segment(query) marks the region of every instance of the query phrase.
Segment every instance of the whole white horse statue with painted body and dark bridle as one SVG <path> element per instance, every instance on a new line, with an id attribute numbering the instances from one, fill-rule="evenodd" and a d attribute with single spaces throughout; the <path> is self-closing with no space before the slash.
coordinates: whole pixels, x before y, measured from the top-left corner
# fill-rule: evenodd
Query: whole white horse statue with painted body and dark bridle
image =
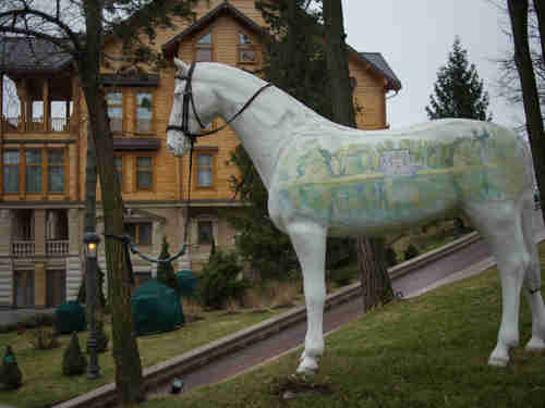
<path id="1" fill-rule="evenodd" d="M 190 147 L 186 135 L 218 116 L 229 122 L 268 189 L 271 220 L 293 243 L 307 311 L 298 372 L 317 370 L 324 351 L 326 236 L 379 236 L 451 210 L 471 219 L 498 264 L 502 312 L 488 363 L 506 366 L 519 343 L 521 288 L 532 308 L 526 349 L 545 349 L 530 154 L 512 132 L 453 119 L 399 131 L 354 129 L 235 67 L 174 63 L 167 146 L 181 157 Z"/>

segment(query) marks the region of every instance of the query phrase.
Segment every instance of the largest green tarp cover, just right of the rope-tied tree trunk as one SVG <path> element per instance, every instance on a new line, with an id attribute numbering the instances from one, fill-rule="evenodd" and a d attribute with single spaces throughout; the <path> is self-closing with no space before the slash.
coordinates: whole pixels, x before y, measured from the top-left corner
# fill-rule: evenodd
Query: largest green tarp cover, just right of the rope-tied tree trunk
<path id="1" fill-rule="evenodd" d="M 131 296 L 136 335 L 170 332 L 185 322 L 174 289 L 150 279 Z"/>

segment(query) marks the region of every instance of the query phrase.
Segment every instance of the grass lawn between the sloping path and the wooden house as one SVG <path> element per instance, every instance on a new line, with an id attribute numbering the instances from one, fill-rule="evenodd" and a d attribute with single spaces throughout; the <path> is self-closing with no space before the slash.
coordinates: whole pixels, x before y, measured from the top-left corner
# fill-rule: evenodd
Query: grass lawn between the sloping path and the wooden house
<path id="1" fill-rule="evenodd" d="M 173 332 L 141 336 L 137 338 L 143 367 L 154 366 L 181 355 L 195 347 L 218 339 L 225 335 L 245 329 L 286 310 L 265 313 L 242 311 L 225 316 L 225 310 L 207 312 L 205 320 L 187 323 Z M 106 331 L 110 337 L 110 326 Z M 85 349 L 87 332 L 80 333 L 80 345 Z M 28 343 L 27 334 L 16 332 L 0 335 L 0 353 L 3 357 L 5 346 L 11 345 L 19 367 L 23 373 L 23 386 L 16 391 L 0 391 L 1 403 L 19 408 L 43 407 L 70 399 L 89 392 L 100 385 L 114 381 L 114 366 L 111 347 L 99 355 L 104 376 L 89 381 L 84 375 L 66 378 L 62 375 L 62 355 L 70 342 L 69 335 L 60 336 L 61 346 L 51 350 L 35 350 Z"/>

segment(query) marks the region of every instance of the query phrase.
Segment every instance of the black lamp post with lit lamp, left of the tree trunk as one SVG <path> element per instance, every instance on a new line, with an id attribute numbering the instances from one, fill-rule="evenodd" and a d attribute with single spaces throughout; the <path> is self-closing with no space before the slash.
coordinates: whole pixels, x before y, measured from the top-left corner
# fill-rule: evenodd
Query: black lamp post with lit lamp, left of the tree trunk
<path id="1" fill-rule="evenodd" d="M 93 232 L 87 232 L 83 236 L 85 244 L 85 257 L 87 261 L 87 273 L 85 274 L 85 304 L 87 306 L 87 317 L 89 319 L 89 335 L 87 337 L 87 350 L 89 353 L 89 364 L 87 366 L 87 379 L 94 380 L 100 376 L 97 356 L 97 254 L 100 237 Z"/>

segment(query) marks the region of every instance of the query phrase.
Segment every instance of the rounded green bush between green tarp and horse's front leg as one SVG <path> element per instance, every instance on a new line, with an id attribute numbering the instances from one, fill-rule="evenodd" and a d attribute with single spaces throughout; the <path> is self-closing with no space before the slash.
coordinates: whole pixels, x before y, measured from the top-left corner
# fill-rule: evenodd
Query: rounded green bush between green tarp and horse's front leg
<path id="1" fill-rule="evenodd" d="M 206 308 L 220 309 L 229 300 L 242 301 L 250 282 L 242 276 L 242 264 L 235 252 L 217 249 L 203 267 L 198 298 Z"/>

